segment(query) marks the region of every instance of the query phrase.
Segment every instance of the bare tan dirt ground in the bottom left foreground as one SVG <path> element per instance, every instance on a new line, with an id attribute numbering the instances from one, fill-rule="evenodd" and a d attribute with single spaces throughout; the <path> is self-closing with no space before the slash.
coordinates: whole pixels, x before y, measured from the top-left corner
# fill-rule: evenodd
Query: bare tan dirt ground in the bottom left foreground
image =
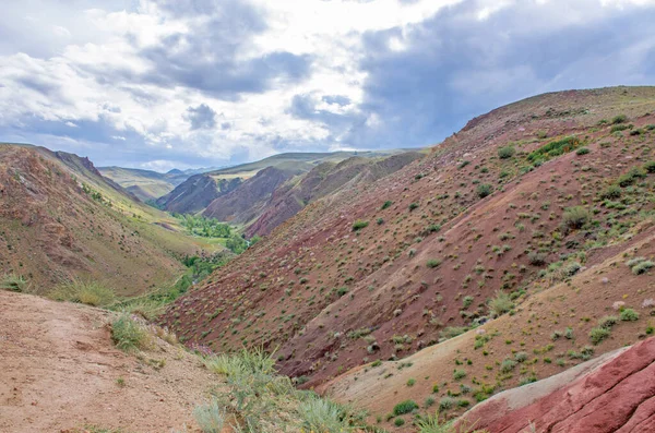
<path id="1" fill-rule="evenodd" d="M 193 431 L 193 407 L 219 380 L 160 339 L 139 356 L 117 350 L 109 317 L 0 291 L 0 432 Z"/>

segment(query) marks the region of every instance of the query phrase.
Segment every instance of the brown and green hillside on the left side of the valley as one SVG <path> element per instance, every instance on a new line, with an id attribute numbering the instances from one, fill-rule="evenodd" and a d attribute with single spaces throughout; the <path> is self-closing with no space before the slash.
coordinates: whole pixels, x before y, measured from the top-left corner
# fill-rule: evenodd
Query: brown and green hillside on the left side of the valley
<path id="1" fill-rule="evenodd" d="M 37 293 L 75 277 L 140 293 L 180 276 L 179 256 L 214 249 L 87 158 L 26 145 L 0 145 L 0 272 Z"/>

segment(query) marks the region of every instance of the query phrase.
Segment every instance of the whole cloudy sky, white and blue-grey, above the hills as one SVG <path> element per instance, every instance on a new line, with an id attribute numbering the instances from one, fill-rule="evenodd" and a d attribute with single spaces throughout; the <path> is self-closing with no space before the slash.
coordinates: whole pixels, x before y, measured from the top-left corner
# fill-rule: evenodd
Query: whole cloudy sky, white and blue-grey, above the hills
<path id="1" fill-rule="evenodd" d="M 655 0 L 2 0 L 0 141 L 168 170 L 655 84 Z"/>

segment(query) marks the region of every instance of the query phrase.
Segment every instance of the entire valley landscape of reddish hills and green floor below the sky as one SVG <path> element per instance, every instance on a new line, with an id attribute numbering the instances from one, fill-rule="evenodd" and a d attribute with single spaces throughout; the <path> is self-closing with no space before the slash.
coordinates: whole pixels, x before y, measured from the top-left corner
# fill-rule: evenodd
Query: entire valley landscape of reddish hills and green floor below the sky
<path id="1" fill-rule="evenodd" d="M 59 357 L 87 365 L 92 389 L 128 398 L 121 418 L 85 417 L 108 405 L 85 397 L 67 419 L 66 406 L 29 407 L 51 399 L 37 397 L 43 375 L 12 373 L 25 397 L 0 388 L 21 408 L 0 428 L 583 432 L 540 402 L 570 390 L 620 413 L 594 432 L 640 432 L 655 419 L 650 382 L 634 378 L 655 361 L 654 143 L 655 87 L 620 86 L 520 100 L 430 148 L 200 173 L 2 144 L 0 303 L 13 325 L 0 369 L 38 370 L 25 348 L 52 349 L 7 336 L 40 326 L 22 334 L 73 347 Z M 110 301 L 62 291 L 100 296 L 94 285 Z M 47 317 L 28 321 L 29 305 Z M 114 348 L 119 323 L 155 342 Z M 614 407 L 607 372 L 628 364 L 621 386 L 639 397 Z M 51 392 L 76 374 L 58 368 Z"/>

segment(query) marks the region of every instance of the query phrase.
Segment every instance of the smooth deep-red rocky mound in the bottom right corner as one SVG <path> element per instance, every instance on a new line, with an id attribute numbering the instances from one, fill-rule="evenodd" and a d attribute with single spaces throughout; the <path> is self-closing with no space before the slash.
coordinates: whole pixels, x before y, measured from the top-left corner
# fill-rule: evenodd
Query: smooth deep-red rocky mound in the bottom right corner
<path id="1" fill-rule="evenodd" d="M 655 338 L 620 350 L 599 366 L 590 362 L 593 368 L 574 382 L 564 372 L 541 381 L 549 383 L 499 394 L 464 418 L 490 433 L 655 431 Z M 553 383 L 560 389 L 534 401 L 535 394 Z"/>

